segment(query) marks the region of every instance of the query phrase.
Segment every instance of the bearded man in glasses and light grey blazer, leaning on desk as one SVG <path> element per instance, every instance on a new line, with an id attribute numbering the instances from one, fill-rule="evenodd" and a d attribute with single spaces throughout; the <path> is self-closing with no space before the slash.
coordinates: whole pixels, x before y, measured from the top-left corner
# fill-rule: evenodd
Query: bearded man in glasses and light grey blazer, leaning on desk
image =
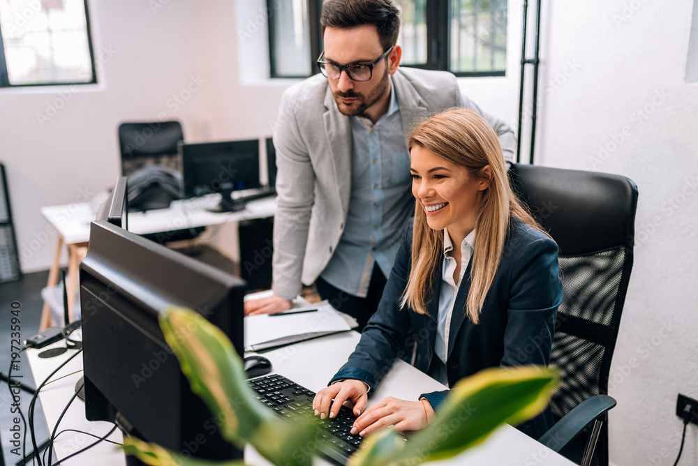
<path id="1" fill-rule="evenodd" d="M 288 309 L 302 283 L 315 283 L 362 329 L 414 212 L 410 131 L 450 107 L 482 112 L 461 96 L 454 75 L 398 67 L 400 19 L 391 0 L 327 0 L 320 24 L 321 74 L 285 91 L 274 129 L 274 296 L 246 302 L 245 313 Z M 483 116 L 511 160 L 514 133 Z"/>

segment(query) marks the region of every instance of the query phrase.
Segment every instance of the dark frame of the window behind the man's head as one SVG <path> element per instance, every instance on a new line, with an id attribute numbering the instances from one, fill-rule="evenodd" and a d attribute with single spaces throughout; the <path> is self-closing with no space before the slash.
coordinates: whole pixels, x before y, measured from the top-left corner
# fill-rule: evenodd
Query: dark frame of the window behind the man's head
<path id="1" fill-rule="evenodd" d="M 274 3 L 279 0 L 267 0 L 267 11 L 273 11 Z M 315 61 L 322 53 L 322 27 L 320 27 L 320 11 L 323 0 L 306 0 L 308 4 L 308 27 L 311 43 L 311 76 L 320 73 Z M 417 65 L 400 65 L 408 68 L 420 68 L 425 70 L 448 71 L 457 77 L 502 77 L 507 71 L 451 71 L 450 66 L 450 0 L 426 0 L 426 63 Z M 507 5 L 508 8 L 508 5 Z M 507 20 L 508 21 L 508 20 Z M 447 27 L 439 27 L 445 24 Z M 507 24 L 508 27 L 508 24 Z M 272 79 L 305 78 L 308 76 L 284 76 L 276 73 L 274 27 L 269 22 L 269 71 Z"/>

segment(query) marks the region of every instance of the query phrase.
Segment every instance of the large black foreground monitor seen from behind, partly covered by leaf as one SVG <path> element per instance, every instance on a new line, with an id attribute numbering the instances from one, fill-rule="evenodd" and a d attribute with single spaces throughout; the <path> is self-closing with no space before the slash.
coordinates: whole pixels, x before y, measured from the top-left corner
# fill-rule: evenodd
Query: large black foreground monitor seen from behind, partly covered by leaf
<path id="1" fill-rule="evenodd" d="M 242 355 L 242 280 L 112 225 L 91 223 L 80 264 L 85 416 L 199 458 L 242 458 L 219 435 L 165 342 L 173 304 L 220 327 Z"/>

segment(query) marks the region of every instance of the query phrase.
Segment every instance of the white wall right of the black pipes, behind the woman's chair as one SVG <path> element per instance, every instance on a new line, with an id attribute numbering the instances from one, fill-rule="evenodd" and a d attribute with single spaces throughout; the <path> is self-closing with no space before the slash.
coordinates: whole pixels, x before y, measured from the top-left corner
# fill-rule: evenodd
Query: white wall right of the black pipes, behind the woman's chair
<path id="1" fill-rule="evenodd" d="M 549 69 L 579 68 L 544 103 L 537 163 L 622 174 L 639 190 L 611 462 L 672 465 L 676 395 L 698 398 L 698 87 L 684 82 L 693 2 L 549 3 Z M 698 464 L 696 426 L 680 464 Z"/>

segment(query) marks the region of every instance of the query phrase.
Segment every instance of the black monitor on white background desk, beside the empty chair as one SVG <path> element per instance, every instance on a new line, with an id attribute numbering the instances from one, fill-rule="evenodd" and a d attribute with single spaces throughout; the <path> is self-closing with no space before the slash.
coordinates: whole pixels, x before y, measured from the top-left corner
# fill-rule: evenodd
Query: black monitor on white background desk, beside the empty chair
<path id="1" fill-rule="evenodd" d="M 215 211 L 244 208 L 231 198 L 232 191 L 260 187 L 258 140 L 179 144 L 184 197 L 221 193 Z"/>

